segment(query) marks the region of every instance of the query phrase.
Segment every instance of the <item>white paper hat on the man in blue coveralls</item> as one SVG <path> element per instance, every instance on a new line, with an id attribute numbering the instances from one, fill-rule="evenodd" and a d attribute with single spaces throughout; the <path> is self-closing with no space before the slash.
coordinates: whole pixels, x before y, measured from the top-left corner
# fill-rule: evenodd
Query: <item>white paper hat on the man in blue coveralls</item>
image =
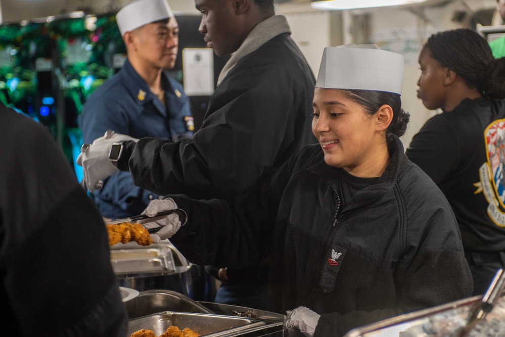
<path id="1" fill-rule="evenodd" d="M 173 17 L 166 0 L 137 0 L 123 7 L 116 14 L 121 36 L 135 28 Z"/>

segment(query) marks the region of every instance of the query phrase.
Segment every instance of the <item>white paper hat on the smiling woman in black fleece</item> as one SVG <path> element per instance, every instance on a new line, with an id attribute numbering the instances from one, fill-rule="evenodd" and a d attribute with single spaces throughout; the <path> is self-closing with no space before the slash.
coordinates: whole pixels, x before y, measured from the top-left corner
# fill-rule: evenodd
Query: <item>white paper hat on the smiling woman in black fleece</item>
<path id="1" fill-rule="evenodd" d="M 403 56 L 383 51 L 376 44 L 326 47 L 315 86 L 401 94 L 403 71 Z"/>

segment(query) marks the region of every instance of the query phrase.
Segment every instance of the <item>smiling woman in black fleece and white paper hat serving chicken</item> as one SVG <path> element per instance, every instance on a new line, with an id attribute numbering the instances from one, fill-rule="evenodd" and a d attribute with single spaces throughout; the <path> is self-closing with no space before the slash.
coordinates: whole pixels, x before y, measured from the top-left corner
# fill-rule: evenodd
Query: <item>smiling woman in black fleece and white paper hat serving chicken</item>
<path id="1" fill-rule="evenodd" d="M 269 265 L 271 310 L 290 311 L 286 325 L 307 336 L 470 296 L 449 203 L 398 138 L 409 119 L 402 78 L 398 54 L 325 49 L 313 97 L 319 144 L 238 198 L 172 195 L 148 209 L 188 213 L 170 241 L 194 263 Z"/>

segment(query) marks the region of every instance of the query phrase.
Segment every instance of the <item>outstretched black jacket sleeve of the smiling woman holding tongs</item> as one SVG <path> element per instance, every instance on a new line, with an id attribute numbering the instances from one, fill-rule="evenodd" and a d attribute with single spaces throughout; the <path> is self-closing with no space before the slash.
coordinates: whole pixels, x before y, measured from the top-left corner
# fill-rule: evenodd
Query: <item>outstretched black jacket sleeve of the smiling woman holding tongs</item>
<path id="1" fill-rule="evenodd" d="M 167 196 L 188 214 L 188 223 L 170 242 L 199 265 L 238 269 L 260 265 L 270 254 L 274 220 L 294 160 L 270 172 L 233 200 Z"/>

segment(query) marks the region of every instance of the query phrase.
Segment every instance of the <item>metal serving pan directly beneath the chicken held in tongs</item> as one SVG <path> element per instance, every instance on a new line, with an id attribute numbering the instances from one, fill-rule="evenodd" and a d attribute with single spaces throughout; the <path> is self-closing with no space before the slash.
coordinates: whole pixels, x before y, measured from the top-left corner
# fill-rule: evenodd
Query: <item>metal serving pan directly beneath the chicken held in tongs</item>
<path id="1" fill-rule="evenodd" d="M 135 242 L 110 248 L 111 265 L 116 277 L 152 277 L 180 274 L 192 264 L 168 241 L 150 246 Z"/>

